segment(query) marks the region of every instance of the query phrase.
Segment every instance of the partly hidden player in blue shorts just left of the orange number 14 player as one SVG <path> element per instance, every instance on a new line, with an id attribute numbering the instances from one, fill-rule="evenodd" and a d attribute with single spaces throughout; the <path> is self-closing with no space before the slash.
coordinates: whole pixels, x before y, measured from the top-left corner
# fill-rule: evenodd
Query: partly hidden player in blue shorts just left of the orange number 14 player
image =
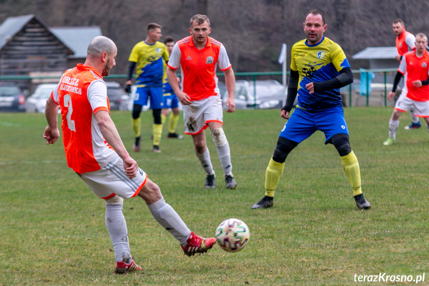
<path id="1" fill-rule="evenodd" d="M 175 44 L 174 39 L 171 36 L 167 36 L 164 39 L 164 44 L 167 47 L 169 55 L 172 54 L 172 50 Z M 172 109 L 172 115 L 170 115 L 169 120 L 169 133 L 167 133 L 167 138 L 176 138 L 182 139 L 183 135 L 179 135 L 176 133 L 177 121 L 179 120 L 180 108 L 179 108 L 179 100 L 177 96 L 174 94 L 172 86 L 167 80 L 167 63 L 164 66 L 164 106 L 161 111 L 161 120 L 164 123 L 167 117 L 170 114 L 170 108 Z"/>

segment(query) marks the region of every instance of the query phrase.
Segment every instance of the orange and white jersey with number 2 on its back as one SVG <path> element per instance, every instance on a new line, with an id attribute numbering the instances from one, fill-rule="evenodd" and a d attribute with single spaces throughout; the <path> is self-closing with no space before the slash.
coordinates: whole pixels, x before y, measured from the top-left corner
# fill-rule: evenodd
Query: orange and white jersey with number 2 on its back
<path id="1" fill-rule="evenodd" d="M 102 76 L 78 64 L 63 74 L 51 96 L 61 108 L 67 165 L 80 174 L 100 170 L 114 154 L 95 119 L 95 113 L 110 109 Z"/>

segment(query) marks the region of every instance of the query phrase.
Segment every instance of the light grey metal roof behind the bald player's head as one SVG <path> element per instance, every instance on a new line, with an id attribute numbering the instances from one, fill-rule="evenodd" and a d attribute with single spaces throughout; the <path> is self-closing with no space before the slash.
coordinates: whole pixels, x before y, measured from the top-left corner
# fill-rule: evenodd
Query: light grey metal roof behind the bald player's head
<path id="1" fill-rule="evenodd" d="M 55 27 L 51 32 L 75 54 L 69 58 L 86 58 L 88 44 L 96 36 L 102 36 L 100 27 Z"/>

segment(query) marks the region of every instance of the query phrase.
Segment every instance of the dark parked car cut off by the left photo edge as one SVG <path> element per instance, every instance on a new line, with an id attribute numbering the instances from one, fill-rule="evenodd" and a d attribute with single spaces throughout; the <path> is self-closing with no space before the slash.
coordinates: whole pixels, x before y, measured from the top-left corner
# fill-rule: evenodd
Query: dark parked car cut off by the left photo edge
<path id="1" fill-rule="evenodd" d="M 14 83 L 0 83 L 0 111 L 24 111 L 25 96 Z"/>

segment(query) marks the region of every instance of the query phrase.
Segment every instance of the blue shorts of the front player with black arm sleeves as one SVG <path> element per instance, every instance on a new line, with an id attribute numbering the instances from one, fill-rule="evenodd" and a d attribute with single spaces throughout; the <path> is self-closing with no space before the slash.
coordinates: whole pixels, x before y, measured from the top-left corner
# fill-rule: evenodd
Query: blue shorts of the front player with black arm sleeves
<path id="1" fill-rule="evenodd" d="M 342 107 L 334 107 L 317 113 L 311 113 L 301 108 L 295 108 L 289 120 L 284 124 L 279 136 L 301 143 L 317 130 L 325 133 L 325 144 L 335 134 L 348 135 Z"/>

